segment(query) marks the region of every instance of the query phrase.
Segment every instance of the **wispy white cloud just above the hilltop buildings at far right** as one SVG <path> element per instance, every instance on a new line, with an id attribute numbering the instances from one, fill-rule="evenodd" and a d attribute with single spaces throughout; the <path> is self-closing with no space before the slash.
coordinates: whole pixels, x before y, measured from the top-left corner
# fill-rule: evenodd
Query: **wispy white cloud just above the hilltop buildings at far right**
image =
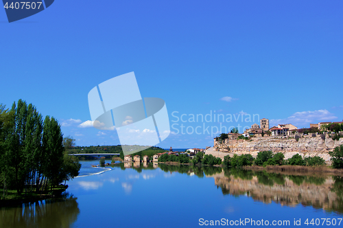
<path id="1" fill-rule="evenodd" d="M 271 119 L 270 126 L 274 126 L 277 124 L 293 124 L 295 126 L 309 127 L 309 124 L 316 124 L 318 122 L 330 122 L 334 119 L 337 119 L 337 117 L 326 109 L 316 111 L 303 111 L 296 112 L 292 116 L 285 119 Z"/>

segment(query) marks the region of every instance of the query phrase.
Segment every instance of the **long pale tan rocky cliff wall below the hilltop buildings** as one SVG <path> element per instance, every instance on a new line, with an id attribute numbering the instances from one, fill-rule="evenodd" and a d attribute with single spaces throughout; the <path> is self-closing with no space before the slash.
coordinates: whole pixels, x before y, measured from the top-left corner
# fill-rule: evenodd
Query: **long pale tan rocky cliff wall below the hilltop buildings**
<path id="1" fill-rule="evenodd" d="M 316 134 L 315 134 L 316 135 Z M 209 153 L 217 151 L 220 155 L 250 154 L 257 156 L 258 152 L 271 150 L 283 152 L 285 159 L 289 159 L 297 153 L 303 157 L 322 157 L 327 163 L 330 161 L 329 151 L 343 144 L 343 138 L 333 140 L 328 135 L 322 139 L 320 135 L 304 135 L 296 141 L 294 137 L 252 137 L 251 139 L 226 139 L 222 143 L 214 139 L 214 146 Z M 229 148 L 229 150 L 228 150 Z M 206 154 L 208 152 L 206 151 Z M 214 154 L 213 154 L 214 155 Z M 223 156 L 224 157 L 224 156 Z"/>

